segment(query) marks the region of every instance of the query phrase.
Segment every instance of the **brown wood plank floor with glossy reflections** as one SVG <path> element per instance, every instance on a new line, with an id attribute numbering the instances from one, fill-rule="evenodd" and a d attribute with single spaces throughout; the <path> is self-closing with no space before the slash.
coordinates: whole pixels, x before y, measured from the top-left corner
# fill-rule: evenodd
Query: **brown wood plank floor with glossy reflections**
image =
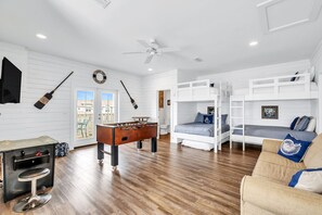
<path id="1" fill-rule="evenodd" d="M 108 156 L 98 164 L 95 146 L 56 159 L 52 200 L 26 214 L 240 214 L 240 184 L 260 148 L 224 144 L 215 154 L 160 140 L 157 154 L 150 149 L 119 147 L 117 173 Z M 14 214 L 15 202 L 0 203 L 0 214 Z"/>

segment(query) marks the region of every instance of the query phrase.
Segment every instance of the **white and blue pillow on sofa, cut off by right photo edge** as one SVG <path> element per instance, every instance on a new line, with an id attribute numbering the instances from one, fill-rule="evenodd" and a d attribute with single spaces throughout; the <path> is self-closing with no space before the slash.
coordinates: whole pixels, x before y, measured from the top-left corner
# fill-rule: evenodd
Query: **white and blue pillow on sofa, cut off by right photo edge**
<path id="1" fill-rule="evenodd" d="M 293 175 L 288 187 L 322 193 L 322 168 L 308 168 Z"/>

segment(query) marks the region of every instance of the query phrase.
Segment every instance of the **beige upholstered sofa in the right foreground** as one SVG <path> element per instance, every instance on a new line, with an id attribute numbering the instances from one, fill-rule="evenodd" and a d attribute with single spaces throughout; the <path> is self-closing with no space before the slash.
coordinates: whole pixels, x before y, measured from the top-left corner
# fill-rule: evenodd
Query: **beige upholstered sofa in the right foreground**
<path id="1" fill-rule="evenodd" d="M 312 141 L 301 163 L 279 155 L 281 143 L 263 140 L 252 176 L 242 180 L 241 214 L 322 214 L 322 194 L 287 186 L 298 170 L 322 167 L 322 134 Z"/>

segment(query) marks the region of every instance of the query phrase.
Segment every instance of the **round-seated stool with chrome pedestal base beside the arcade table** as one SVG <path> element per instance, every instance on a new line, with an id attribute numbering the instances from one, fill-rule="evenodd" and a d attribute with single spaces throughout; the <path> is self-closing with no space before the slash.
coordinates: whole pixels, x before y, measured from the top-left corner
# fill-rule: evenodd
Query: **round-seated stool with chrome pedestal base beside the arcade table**
<path id="1" fill-rule="evenodd" d="M 51 194 L 37 194 L 37 180 L 50 174 L 49 168 L 35 168 L 26 170 L 18 176 L 18 181 L 31 181 L 31 195 L 18 201 L 14 207 L 14 212 L 26 212 L 43 206 L 51 199 Z"/>

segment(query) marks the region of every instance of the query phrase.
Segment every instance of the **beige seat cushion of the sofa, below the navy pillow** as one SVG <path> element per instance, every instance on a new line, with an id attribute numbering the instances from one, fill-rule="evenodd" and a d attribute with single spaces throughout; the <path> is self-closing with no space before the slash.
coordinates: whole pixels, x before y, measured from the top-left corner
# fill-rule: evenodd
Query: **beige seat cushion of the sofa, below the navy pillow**
<path id="1" fill-rule="evenodd" d="M 288 185 L 292 176 L 300 169 L 306 168 L 304 163 L 295 163 L 279 154 L 261 152 L 253 176 L 263 177 L 279 184 Z"/>

